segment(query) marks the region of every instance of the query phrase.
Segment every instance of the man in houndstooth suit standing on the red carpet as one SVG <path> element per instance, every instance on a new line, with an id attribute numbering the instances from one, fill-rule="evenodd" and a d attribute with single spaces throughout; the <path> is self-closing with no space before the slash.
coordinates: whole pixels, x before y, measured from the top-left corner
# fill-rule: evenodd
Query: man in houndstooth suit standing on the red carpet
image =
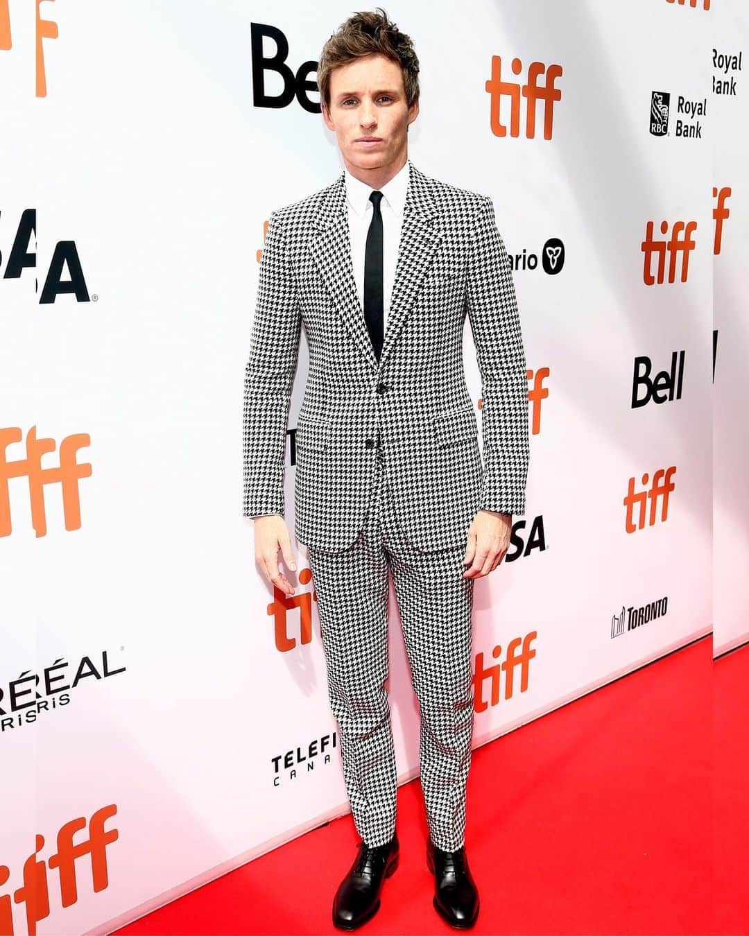
<path id="1" fill-rule="evenodd" d="M 286 593 L 286 427 L 301 324 L 309 375 L 296 431 L 295 533 L 308 547 L 359 853 L 333 922 L 356 929 L 398 862 L 388 676 L 389 571 L 419 700 L 433 904 L 476 921 L 465 854 L 476 578 L 503 559 L 529 461 L 521 327 L 488 197 L 408 160 L 419 63 L 384 10 L 353 14 L 317 70 L 344 172 L 272 212 L 244 388 L 243 514 Z M 482 381 L 483 464 L 463 373 L 469 316 Z M 470 564 L 469 564 L 470 563 Z M 465 566 L 469 565 L 468 568 Z"/>

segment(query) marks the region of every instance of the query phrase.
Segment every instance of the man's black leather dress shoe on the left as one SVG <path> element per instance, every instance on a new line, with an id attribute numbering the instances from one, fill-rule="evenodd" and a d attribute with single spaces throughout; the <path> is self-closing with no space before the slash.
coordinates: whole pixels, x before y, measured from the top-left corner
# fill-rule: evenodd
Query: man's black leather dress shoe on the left
<path id="1" fill-rule="evenodd" d="M 385 845 L 360 841 L 359 855 L 333 899 L 333 924 L 338 929 L 357 929 L 377 913 L 382 885 L 398 867 L 398 855 L 397 836 Z"/>

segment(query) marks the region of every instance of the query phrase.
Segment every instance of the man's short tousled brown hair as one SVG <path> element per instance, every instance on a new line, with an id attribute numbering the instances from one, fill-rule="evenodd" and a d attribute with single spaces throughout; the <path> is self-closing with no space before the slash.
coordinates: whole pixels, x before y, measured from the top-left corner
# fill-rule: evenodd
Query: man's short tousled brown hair
<path id="1" fill-rule="evenodd" d="M 361 10 L 341 23 L 322 47 L 317 63 L 320 98 L 330 110 L 330 74 L 338 66 L 379 52 L 397 62 L 404 73 L 405 101 L 410 108 L 419 99 L 419 59 L 411 37 L 402 33 L 382 7 Z"/>

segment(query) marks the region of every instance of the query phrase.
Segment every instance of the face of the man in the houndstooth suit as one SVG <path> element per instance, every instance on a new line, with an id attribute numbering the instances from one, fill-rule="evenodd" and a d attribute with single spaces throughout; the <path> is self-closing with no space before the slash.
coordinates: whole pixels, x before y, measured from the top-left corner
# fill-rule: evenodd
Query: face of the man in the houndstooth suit
<path id="1" fill-rule="evenodd" d="M 349 171 L 403 164 L 406 128 L 418 113 L 418 100 L 406 106 L 401 66 L 379 52 L 336 68 L 330 74 L 330 111 L 322 105 Z"/>

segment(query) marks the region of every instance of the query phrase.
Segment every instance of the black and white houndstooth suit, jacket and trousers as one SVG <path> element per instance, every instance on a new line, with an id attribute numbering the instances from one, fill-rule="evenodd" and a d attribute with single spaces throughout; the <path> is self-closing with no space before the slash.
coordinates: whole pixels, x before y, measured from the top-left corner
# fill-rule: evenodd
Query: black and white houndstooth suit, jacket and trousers
<path id="1" fill-rule="evenodd" d="M 244 379 L 243 515 L 285 512 L 286 427 L 301 326 L 309 373 L 296 428 L 295 527 L 309 551 L 346 788 L 362 839 L 394 830 L 388 571 L 419 698 L 421 784 L 434 844 L 463 843 L 473 727 L 479 508 L 524 512 L 525 359 L 492 200 L 409 161 L 380 360 L 357 295 L 345 174 L 272 212 Z M 483 459 L 463 373 L 468 315 L 481 373 Z"/>

